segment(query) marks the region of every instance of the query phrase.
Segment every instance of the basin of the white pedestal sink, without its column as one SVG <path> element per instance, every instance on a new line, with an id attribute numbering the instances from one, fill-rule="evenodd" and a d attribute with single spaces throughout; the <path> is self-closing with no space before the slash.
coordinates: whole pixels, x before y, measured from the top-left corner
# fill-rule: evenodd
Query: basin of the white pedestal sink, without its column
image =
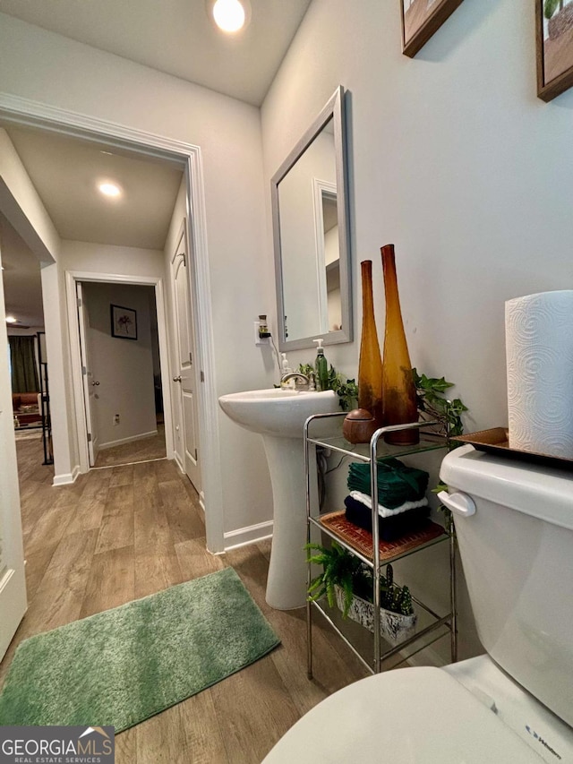
<path id="1" fill-rule="evenodd" d="M 312 414 L 338 411 L 338 396 L 333 390 L 305 392 L 295 390 L 251 390 L 222 395 L 220 407 L 237 425 L 252 433 L 276 438 L 302 438 L 304 422 Z"/>

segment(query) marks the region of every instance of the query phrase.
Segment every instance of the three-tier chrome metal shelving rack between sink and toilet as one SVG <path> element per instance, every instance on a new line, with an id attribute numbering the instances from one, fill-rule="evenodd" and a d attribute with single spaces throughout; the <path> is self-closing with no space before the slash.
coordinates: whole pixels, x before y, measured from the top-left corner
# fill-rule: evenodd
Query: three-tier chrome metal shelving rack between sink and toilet
<path id="1" fill-rule="evenodd" d="M 410 548 L 405 552 L 386 557 L 383 564 L 388 562 L 395 562 L 403 559 L 410 554 L 417 554 L 423 549 L 427 549 L 429 546 L 433 546 L 439 543 L 449 543 L 449 613 L 440 615 L 434 613 L 431 608 L 424 605 L 423 602 L 413 597 L 415 605 L 418 607 L 419 621 L 424 622 L 422 628 L 417 629 L 415 634 L 401 641 L 398 645 L 390 646 L 389 643 L 384 645 L 382 650 L 382 638 L 380 633 L 380 575 L 381 575 L 381 545 L 380 545 L 380 529 L 378 526 L 378 464 L 379 461 L 389 459 L 390 457 L 404 457 L 411 454 L 423 453 L 423 451 L 434 451 L 437 449 L 449 448 L 449 438 L 432 434 L 429 432 L 423 432 L 423 428 L 427 428 L 431 425 L 435 425 L 435 422 L 416 422 L 408 425 L 394 425 L 388 427 L 382 427 L 377 430 L 373 435 L 370 443 L 353 445 L 347 442 L 341 435 L 329 436 L 329 437 L 317 437 L 311 436 L 309 431 L 312 425 L 319 420 L 334 420 L 335 417 L 346 416 L 345 412 L 339 412 L 335 414 L 317 414 L 310 416 L 304 424 L 304 474 L 306 480 L 306 517 L 307 517 L 307 543 L 311 542 L 312 528 L 320 528 L 323 534 L 326 534 L 332 540 L 336 541 L 339 545 L 345 547 L 348 552 L 355 554 L 362 562 L 372 568 L 374 586 L 372 592 L 373 600 L 373 635 L 370 635 L 371 648 L 372 648 L 372 660 L 368 660 L 364 656 L 367 652 L 367 648 L 362 649 L 357 647 L 359 640 L 363 641 L 366 632 L 362 626 L 354 622 L 343 621 L 339 611 L 336 607 L 329 608 L 329 605 L 325 600 L 319 600 L 317 602 L 307 602 L 306 604 L 306 624 L 307 624 L 307 649 L 308 649 L 308 676 L 312 678 L 312 614 L 314 610 L 318 610 L 322 616 L 329 622 L 330 626 L 337 631 L 338 635 L 346 642 L 346 645 L 353 650 L 355 655 L 362 661 L 363 665 L 372 674 L 379 674 L 381 672 L 382 665 L 389 662 L 392 658 L 399 658 L 394 665 L 399 665 L 406 661 L 409 657 L 415 655 L 423 648 L 427 648 L 433 642 L 440 640 L 442 637 L 447 636 L 449 633 L 450 638 L 450 653 L 452 663 L 458 659 L 458 630 L 457 630 L 457 615 L 456 615 L 456 537 L 453 531 L 444 531 L 439 537 L 432 538 L 432 540 L 422 543 Z M 420 443 L 415 446 L 389 446 L 383 441 L 383 435 L 388 432 L 417 428 L 421 430 Z M 318 514 L 312 514 L 312 470 L 310 459 L 310 447 L 321 446 L 322 448 L 329 449 L 330 451 L 338 451 L 351 459 L 358 461 L 369 462 L 371 465 L 371 495 L 372 495 L 372 555 L 367 556 L 359 552 L 350 540 L 345 539 L 338 533 L 334 533 L 321 523 L 321 518 L 326 514 L 319 511 Z M 308 585 L 312 579 L 312 566 L 308 566 Z M 423 618 L 421 617 L 423 616 Z M 365 634 L 364 634 L 365 632 Z M 368 640 L 366 640 L 368 641 Z M 407 652 L 410 648 L 414 648 Z M 404 656 L 405 651 L 407 652 Z M 402 654 L 402 657 L 400 655 Z"/>

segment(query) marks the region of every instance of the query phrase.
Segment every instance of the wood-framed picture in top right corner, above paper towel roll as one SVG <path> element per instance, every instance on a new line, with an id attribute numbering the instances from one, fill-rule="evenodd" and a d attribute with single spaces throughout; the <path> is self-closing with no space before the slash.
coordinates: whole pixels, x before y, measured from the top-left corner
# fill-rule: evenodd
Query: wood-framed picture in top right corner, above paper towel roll
<path id="1" fill-rule="evenodd" d="M 535 0 L 537 95 L 551 101 L 573 85 L 573 0 Z"/>

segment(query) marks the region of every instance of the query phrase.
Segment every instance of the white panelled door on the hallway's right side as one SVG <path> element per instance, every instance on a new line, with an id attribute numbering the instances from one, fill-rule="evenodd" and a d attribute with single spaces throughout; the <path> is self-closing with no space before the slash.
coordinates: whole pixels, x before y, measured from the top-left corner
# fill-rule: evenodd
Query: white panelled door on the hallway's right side
<path id="1" fill-rule="evenodd" d="M 195 394 L 195 348 L 189 288 L 189 248 L 182 226 L 171 261 L 175 313 L 176 357 L 173 374 L 175 400 L 175 453 L 181 467 L 201 493 L 197 396 Z"/>

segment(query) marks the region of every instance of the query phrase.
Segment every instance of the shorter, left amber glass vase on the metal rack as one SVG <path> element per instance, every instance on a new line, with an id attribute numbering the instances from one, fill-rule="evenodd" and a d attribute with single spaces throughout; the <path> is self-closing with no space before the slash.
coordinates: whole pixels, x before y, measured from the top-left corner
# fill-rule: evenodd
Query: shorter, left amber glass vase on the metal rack
<path id="1" fill-rule="evenodd" d="M 362 270 L 362 339 L 358 362 L 358 407 L 370 411 L 382 426 L 382 359 L 372 300 L 372 260 L 360 263 Z"/>

